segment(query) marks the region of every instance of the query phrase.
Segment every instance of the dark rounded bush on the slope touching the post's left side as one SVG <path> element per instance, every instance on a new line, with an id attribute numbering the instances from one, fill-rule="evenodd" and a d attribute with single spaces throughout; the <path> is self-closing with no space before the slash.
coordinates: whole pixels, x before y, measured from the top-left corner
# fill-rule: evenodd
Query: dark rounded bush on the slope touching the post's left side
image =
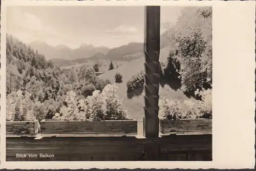
<path id="1" fill-rule="evenodd" d="M 132 92 L 144 84 L 144 71 L 141 71 L 138 75 L 133 76 L 126 84 L 127 92 Z"/>

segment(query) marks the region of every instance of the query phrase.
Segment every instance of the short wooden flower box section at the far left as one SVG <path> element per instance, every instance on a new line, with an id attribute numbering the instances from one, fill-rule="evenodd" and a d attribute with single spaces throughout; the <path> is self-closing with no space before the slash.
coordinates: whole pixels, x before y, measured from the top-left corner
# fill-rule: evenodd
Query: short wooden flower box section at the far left
<path id="1" fill-rule="evenodd" d="M 6 121 L 6 135 L 30 135 L 40 132 L 40 125 L 35 121 Z"/>

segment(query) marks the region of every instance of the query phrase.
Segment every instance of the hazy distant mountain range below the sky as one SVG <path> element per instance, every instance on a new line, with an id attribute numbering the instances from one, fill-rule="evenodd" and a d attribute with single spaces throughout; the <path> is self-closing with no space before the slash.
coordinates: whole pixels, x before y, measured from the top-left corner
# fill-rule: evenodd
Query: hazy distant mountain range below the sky
<path id="1" fill-rule="evenodd" d="M 161 46 L 164 47 L 166 44 L 166 40 L 162 37 Z M 113 49 L 104 46 L 94 47 L 91 44 L 82 44 L 77 49 L 71 49 L 66 45 L 50 46 L 44 41 L 34 41 L 29 46 L 59 67 L 99 59 L 131 61 L 143 56 L 144 49 L 142 42 L 130 42 Z"/>

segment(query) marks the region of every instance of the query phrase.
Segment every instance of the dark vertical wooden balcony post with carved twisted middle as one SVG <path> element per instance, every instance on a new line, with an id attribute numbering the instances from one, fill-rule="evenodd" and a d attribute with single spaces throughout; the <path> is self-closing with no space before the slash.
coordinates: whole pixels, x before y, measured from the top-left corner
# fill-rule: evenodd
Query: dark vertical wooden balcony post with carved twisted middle
<path id="1" fill-rule="evenodd" d="M 160 6 L 145 7 L 144 26 L 144 126 L 145 137 L 158 137 Z"/>

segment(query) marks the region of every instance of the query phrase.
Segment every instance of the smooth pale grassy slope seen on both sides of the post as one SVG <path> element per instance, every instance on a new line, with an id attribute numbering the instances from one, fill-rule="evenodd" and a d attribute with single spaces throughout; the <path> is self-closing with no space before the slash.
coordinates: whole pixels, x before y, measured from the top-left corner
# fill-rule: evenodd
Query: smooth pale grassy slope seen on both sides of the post
<path id="1" fill-rule="evenodd" d="M 160 62 L 165 61 L 169 51 L 172 50 L 169 46 L 164 47 L 160 51 Z M 141 57 L 135 60 L 132 60 L 131 62 L 125 63 L 122 67 L 119 67 L 117 69 L 105 72 L 101 75 L 99 75 L 102 79 L 109 79 L 112 83 L 115 82 L 115 74 L 120 73 L 122 74 L 122 83 L 116 83 L 116 86 L 118 87 L 117 94 L 119 98 L 123 98 L 123 103 L 125 104 L 129 117 L 132 119 L 142 120 L 143 118 L 143 92 L 142 90 L 136 90 L 140 92 L 138 96 L 135 96 L 133 98 L 127 97 L 127 87 L 126 83 L 129 81 L 134 75 L 137 75 L 141 70 L 144 70 L 144 55 L 141 54 Z M 163 98 L 172 98 L 175 100 L 179 100 L 183 102 L 184 100 L 188 99 L 182 91 L 180 90 L 173 90 L 169 86 L 165 85 L 163 87 L 160 86 L 159 89 L 159 95 L 160 99 Z"/>

